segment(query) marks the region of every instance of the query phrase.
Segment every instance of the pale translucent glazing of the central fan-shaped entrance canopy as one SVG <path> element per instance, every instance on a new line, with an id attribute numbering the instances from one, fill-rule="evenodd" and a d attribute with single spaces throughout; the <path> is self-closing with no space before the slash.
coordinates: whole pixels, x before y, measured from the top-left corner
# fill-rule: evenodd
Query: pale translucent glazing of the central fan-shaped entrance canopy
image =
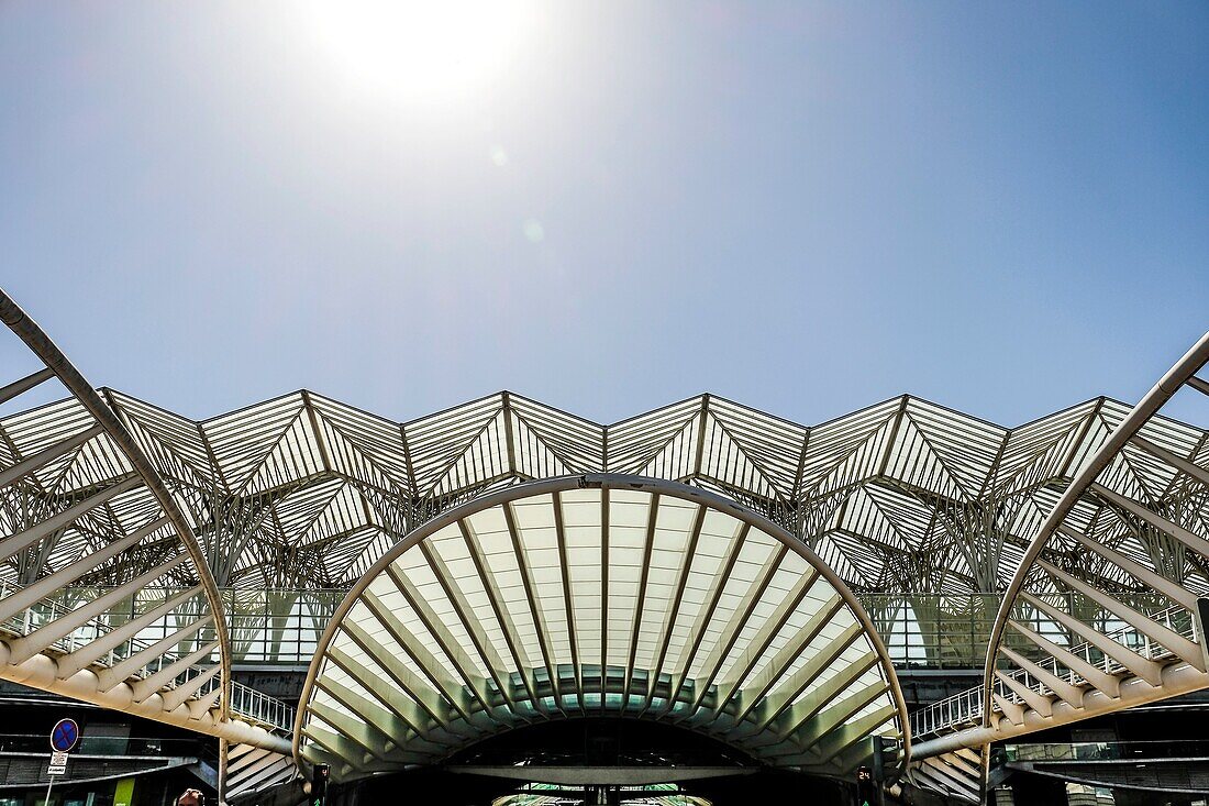
<path id="1" fill-rule="evenodd" d="M 805 697 L 869 700 L 857 715 L 897 712 L 878 666 L 889 658 L 864 633 L 850 594 L 794 539 L 721 499 L 690 500 L 687 488 L 600 478 L 584 488 L 555 483 L 556 493 L 515 488 L 497 503 L 467 505 L 464 534 L 455 522 L 394 549 L 392 572 L 366 581 L 365 600 L 325 652 L 398 696 L 444 701 L 451 721 L 439 741 L 450 752 L 487 724 L 540 718 L 523 681 L 549 679 L 543 646 L 557 669 L 561 708 L 667 714 L 770 762 L 789 739 L 769 743 L 760 732 Z M 370 651 L 353 640 L 358 631 Z M 617 672 L 602 680 L 602 666 Z M 413 678 L 410 690 L 398 689 L 400 673 Z M 320 677 L 361 690 L 330 660 Z M 626 679 L 637 686 L 629 697 L 614 687 Z M 311 702 L 331 704 L 322 687 Z M 730 716 L 713 727 L 723 713 Z M 829 730 L 811 727 L 816 718 L 803 713 L 793 731 Z M 330 755 L 313 742 L 305 748 L 308 758 Z M 804 756 L 799 749 L 792 758 Z"/>

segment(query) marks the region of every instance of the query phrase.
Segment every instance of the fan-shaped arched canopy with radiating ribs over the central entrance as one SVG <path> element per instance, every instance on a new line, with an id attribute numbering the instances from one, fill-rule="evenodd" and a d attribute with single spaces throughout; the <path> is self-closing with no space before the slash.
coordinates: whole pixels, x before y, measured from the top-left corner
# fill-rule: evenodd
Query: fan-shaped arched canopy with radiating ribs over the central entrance
<path id="1" fill-rule="evenodd" d="M 409 535 L 342 603 L 302 706 L 301 758 L 345 781 L 585 715 L 832 776 L 870 736 L 906 739 L 885 647 L 817 554 L 728 499 L 617 474 L 515 487 Z"/>

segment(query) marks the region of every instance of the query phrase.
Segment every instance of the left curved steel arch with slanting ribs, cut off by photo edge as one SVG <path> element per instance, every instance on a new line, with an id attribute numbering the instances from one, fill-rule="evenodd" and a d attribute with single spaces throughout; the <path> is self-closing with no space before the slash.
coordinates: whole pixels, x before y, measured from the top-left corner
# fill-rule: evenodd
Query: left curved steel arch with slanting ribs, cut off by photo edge
<path id="1" fill-rule="evenodd" d="M 218 588 L 154 466 L 2 293 L 0 319 L 29 350 L 11 359 L 27 370 L 0 387 L 0 404 L 45 384 L 73 396 L 64 416 L 15 415 L 0 437 L 0 678 L 282 749 L 231 713 Z M 181 589 L 144 595 L 168 582 Z"/>

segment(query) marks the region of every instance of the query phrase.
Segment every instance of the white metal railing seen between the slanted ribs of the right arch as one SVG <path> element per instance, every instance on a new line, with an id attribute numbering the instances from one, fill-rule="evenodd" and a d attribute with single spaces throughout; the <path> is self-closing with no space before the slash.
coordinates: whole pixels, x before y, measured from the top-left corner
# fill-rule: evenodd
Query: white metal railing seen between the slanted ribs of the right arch
<path id="1" fill-rule="evenodd" d="M 1192 615 L 1179 605 L 1173 605 L 1159 610 L 1158 612 L 1151 614 L 1150 618 L 1184 638 L 1196 640 L 1196 627 Z M 1036 621 L 1034 623 L 1036 623 Z M 1057 622 L 1051 623 L 1055 624 Z M 1054 635 L 1054 638 L 1058 637 Z M 1105 638 L 1121 644 L 1146 660 L 1165 661 L 1175 657 L 1175 655 L 1165 646 L 1158 644 L 1150 635 L 1146 635 L 1138 628 L 1129 624 L 1106 632 Z M 1089 643 L 1084 641 L 1065 649 L 1071 655 L 1080 657 L 1089 666 L 1103 669 L 1107 674 L 1117 675 L 1128 670 L 1126 667 L 1117 663 L 1112 657 L 1105 655 Z M 1087 684 L 1087 680 L 1084 680 L 1082 675 L 1063 666 L 1063 663 L 1052 655 L 1030 660 L 1053 677 L 1070 683 L 1071 685 L 1081 686 Z M 1006 674 L 1012 680 L 1023 684 L 1024 687 L 1030 691 L 1036 691 L 1042 696 L 1054 693 L 1049 686 L 1030 674 L 1026 669 L 1013 669 Z M 1024 698 L 1002 680 L 995 680 L 994 692 L 1007 702 L 1022 706 L 1026 704 Z M 993 708 L 999 710 L 997 704 L 994 704 Z M 910 715 L 912 736 L 916 738 L 935 736 L 978 724 L 982 721 L 985 703 L 983 702 L 982 686 L 961 691 L 951 697 L 935 702 L 931 706 L 913 713 Z"/>

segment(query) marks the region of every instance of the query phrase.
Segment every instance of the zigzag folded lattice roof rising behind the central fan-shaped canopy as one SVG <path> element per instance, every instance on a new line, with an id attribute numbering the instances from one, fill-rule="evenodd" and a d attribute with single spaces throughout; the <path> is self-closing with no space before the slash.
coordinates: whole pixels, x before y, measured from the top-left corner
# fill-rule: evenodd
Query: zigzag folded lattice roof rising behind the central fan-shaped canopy
<path id="1" fill-rule="evenodd" d="M 283 588 L 348 587 L 400 536 L 484 493 L 619 472 L 733 497 L 802 536 L 857 591 L 995 591 L 1128 411 L 1100 398 L 1002 428 L 901 397 L 806 427 L 705 395 L 602 426 L 501 392 L 399 424 L 303 391 L 196 422 L 103 396 L 192 519 L 218 583 Z M 5 418 L 0 445 L 40 450 L 81 416 L 65 401 Z M 1165 420 L 1153 428 L 1180 456 L 1205 450 L 1203 431 Z M 104 451 L 98 439 L 64 460 L 70 472 L 56 489 L 117 477 L 120 462 Z M 1153 464 L 1127 472 L 1173 502 L 1187 494 L 1167 489 Z M 47 562 L 77 545 L 63 541 Z M 1181 572 L 1205 580 L 1191 565 Z"/>

